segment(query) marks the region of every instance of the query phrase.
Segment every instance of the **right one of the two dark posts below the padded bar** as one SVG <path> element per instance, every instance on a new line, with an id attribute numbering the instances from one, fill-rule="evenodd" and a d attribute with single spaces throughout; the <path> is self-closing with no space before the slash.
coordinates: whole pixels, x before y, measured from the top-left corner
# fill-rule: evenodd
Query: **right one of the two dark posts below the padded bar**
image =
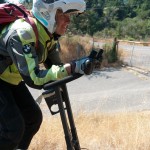
<path id="1" fill-rule="evenodd" d="M 74 148 L 75 148 L 75 150 L 81 150 L 75 123 L 74 123 L 74 119 L 73 119 L 73 113 L 72 113 L 72 109 L 71 109 L 71 105 L 70 105 L 70 101 L 69 101 L 66 84 L 62 85 L 61 87 L 64 92 L 64 99 L 65 99 L 68 119 L 69 119 L 69 123 L 70 123 L 72 138 L 73 138 L 73 142 L 74 142 Z"/>

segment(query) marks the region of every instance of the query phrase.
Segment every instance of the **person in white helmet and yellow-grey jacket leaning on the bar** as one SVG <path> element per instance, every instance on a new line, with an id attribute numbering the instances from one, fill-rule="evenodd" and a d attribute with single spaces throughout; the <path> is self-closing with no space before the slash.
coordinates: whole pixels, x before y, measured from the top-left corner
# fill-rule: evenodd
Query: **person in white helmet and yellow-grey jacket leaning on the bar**
<path id="1" fill-rule="evenodd" d="M 84 0 L 33 0 L 32 26 L 24 19 L 6 25 L 0 33 L 0 150 L 28 149 L 42 122 L 42 112 L 26 84 L 41 89 L 72 72 L 84 73 L 78 63 L 62 64 L 56 45 L 72 14 L 83 13 Z M 46 69 L 39 67 L 46 64 Z"/>

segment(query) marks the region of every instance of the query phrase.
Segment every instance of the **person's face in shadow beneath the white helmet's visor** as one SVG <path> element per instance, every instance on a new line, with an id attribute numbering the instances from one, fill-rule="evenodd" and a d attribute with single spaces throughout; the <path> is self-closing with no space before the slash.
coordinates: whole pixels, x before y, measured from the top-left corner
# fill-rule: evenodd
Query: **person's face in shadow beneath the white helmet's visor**
<path id="1" fill-rule="evenodd" d="M 55 32 L 59 35 L 63 35 L 70 23 L 70 14 L 64 14 L 61 10 L 56 12 L 56 30 Z"/>

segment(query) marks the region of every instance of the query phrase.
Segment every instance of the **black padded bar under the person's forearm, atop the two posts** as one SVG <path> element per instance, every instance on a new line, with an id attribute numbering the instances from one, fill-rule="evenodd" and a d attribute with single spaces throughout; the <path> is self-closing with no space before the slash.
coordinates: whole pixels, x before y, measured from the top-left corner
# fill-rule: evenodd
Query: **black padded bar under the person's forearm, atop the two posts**
<path id="1" fill-rule="evenodd" d="M 44 90 L 48 90 L 50 88 L 54 88 L 56 86 L 60 86 L 62 84 L 65 84 L 65 83 L 68 83 L 70 81 L 73 81 L 75 79 L 78 79 L 82 76 L 82 74 L 79 74 L 79 73 L 76 73 L 76 74 L 73 74 L 71 76 L 68 76 L 68 77 L 65 77 L 63 78 L 62 80 L 57 80 L 57 81 L 54 81 L 54 82 L 50 82 L 50 83 L 47 83 L 43 86 L 43 89 Z"/>

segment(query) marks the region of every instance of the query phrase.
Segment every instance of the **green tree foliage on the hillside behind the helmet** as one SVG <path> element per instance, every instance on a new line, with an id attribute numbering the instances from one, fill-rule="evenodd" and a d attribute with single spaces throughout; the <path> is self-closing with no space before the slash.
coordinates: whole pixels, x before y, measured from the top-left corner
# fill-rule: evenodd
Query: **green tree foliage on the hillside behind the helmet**
<path id="1" fill-rule="evenodd" d="M 86 4 L 86 12 L 74 17 L 71 25 L 78 33 L 137 40 L 149 38 L 149 0 L 86 0 Z"/>

